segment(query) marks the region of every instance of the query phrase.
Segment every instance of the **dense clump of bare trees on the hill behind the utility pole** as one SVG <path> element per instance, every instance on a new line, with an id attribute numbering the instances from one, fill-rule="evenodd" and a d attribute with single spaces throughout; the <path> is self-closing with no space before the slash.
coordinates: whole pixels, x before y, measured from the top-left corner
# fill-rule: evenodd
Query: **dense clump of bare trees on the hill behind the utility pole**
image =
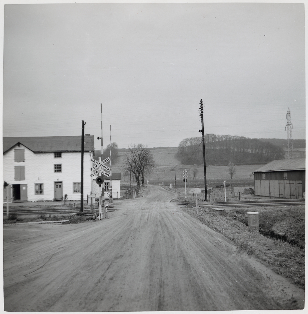
<path id="1" fill-rule="evenodd" d="M 263 164 L 284 159 L 281 147 L 257 138 L 204 134 L 206 164 L 237 165 Z M 178 145 L 176 158 L 184 165 L 203 164 L 202 137 L 183 139 Z"/>

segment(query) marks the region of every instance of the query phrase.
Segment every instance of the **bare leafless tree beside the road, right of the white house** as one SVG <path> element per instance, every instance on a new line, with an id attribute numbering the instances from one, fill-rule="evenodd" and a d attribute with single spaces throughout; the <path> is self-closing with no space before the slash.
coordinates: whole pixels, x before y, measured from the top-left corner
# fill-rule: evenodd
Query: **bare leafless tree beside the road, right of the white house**
<path id="1" fill-rule="evenodd" d="M 134 144 L 128 150 L 128 153 L 124 154 L 124 167 L 126 171 L 131 171 L 134 174 L 137 189 L 140 189 L 140 175 L 141 185 L 144 187 L 144 174 L 155 166 L 151 149 L 143 144 Z"/>

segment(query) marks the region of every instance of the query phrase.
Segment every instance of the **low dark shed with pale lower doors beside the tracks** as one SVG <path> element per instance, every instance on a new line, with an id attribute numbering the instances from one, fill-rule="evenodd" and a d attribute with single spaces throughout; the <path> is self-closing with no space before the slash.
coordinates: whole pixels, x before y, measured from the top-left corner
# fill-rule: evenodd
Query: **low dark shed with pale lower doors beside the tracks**
<path id="1" fill-rule="evenodd" d="M 256 195 L 305 198 L 305 158 L 273 160 L 253 173 Z"/>

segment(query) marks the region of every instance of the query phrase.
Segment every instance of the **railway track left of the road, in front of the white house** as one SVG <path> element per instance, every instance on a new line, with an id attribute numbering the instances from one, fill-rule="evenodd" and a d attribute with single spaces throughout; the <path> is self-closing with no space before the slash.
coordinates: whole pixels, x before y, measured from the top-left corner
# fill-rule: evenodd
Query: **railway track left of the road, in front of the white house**
<path id="1" fill-rule="evenodd" d="M 116 205 L 108 206 L 107 212 L 114 211 L 114 207 Z M 97 206 L 94 207 L 95 212 L 99 211 L 99 208 Z M 48 214 L 76 214 L 80 211 L 80 207 L 63 207 L 63 208 L 9 208 L 8 212 L 9 214 L 16 214 L 16 215 L 48 215 Z M 90 214 L 90 207 L 84 207 L 83 211 L 85 213 Z M 3 216 L 6 215 L 6 207 L 3 207 Z"/>

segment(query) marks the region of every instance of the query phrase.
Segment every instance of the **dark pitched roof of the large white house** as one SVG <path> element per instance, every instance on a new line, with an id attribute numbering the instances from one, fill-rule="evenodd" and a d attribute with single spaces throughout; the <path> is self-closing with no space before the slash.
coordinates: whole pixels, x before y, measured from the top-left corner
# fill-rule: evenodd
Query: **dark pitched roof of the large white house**
<path id="1" fill-rule="evenodd" d="M 18 143 L 34 153 L 81 152 L 81 136 L 36 136 L 36 137 L 3 137 L 5 154 Z M 94 135 L 84 136 L 84 151 L 94 150 Z"/>

